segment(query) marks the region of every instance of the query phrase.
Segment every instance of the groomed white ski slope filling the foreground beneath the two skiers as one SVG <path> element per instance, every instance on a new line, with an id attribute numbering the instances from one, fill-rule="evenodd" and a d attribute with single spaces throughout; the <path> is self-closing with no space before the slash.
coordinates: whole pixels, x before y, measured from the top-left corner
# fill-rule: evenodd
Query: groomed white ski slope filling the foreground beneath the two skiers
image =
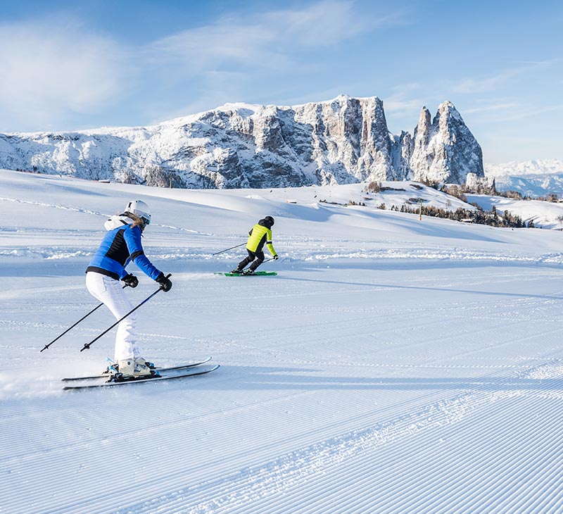
<path id="1" fill-rule="evenodd" d="M 0 512 L 563 512 L 562 232 L 317 203 L 361 187 L 1 171 Z M 84 268 L 130 199 L 174 284 L 139 309 L 143 355 L 221 368 L 63 391 L 106 367 L 113 331 L 80 349 L 113 318 L 39 350 L 96 306 Z M 265 215 L 278 275 L 213 275 Z M 129 270 L 139 303 L 156 284 Z"/>

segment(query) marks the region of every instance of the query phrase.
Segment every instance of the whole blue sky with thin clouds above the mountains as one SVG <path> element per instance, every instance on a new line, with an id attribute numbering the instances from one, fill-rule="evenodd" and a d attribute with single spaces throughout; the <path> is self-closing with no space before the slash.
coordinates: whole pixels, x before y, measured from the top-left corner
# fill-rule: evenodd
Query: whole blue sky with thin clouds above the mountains
<path id="1" fill-rule="evenodd" d="M 151 125 L 227 102 L 450 100 L 486 163 L 563 159 L 556 1 L 0 0 L 0 132 Z"/>

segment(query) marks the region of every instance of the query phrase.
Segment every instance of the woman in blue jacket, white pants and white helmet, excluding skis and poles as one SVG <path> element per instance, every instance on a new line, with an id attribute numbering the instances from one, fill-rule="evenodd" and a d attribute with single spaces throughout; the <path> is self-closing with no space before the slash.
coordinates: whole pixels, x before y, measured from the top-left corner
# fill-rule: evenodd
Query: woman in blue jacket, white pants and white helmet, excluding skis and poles
<path id="1" fill-rule="evenodd" d="M 129 287 L 137 287 L 139 280 L 125 267 L 134 261 L 141 271 L 160 284 L 167 292 L 172 287 L 170 279 L 158 270 L 145 256 L 141 234 L 151 222 L 148 205 L 141 200 L 129 201 L 122 214 L 111 216 L 105 224 L 106 235 L 86 269 L 86 287 L 94 298 L 103 302 L 115 319 L 123 318 L 133 309 L 120 280 Z M 118 325 L 115 335 L 115 363 L 123 377 L 156 375 L 154 365 L 139 354 L 137 348 L 137 313 L 127 316 Z M 113 370 L 108 368 L 109 372 Z"/>

